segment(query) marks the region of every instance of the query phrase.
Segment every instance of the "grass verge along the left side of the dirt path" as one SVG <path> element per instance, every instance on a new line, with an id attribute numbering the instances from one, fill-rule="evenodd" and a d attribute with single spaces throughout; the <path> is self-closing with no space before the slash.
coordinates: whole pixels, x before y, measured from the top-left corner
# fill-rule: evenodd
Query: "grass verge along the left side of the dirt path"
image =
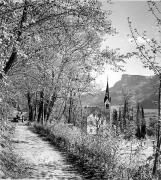
<path id="1" fill-rule="evenodd" d="M 29 165 L 13 152 L 11 136 L 14 133 L 13 124 L 0 121 L 0 178 L 23 179 L 31 175 Z"/>

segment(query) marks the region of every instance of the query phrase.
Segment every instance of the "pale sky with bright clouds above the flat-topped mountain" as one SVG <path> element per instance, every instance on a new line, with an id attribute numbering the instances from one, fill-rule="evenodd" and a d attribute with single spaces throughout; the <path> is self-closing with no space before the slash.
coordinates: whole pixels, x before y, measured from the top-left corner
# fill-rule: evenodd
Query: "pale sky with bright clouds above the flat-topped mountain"
<path id="1" fill-rule="evenodd" d="M 156 20 L 148 11 L 148 5 L 146 1 L 112 1 L 112 4 L 101 1 L 104 9 L 109 9 L 112 14 L 109 18 L 112 21 L 112 26 L 116 28 L 118 34 L 115 36 L 105 36 L 103 46 L 109 46 L 110 48 L 120 48 L 122 53 L 132 52 L 135 49 L 134 44 L 130 41 L 128 34 L 130 34 L 127 17 L 130 17 L 132 25 L 137 28 L 140 34 L 143 31 L 147 31 L 147 37 L 157 37 Z M 142 43 L 142 39 L 138 39 Z M 107 83 L 107 76 L 109 86 L 112 87 L 115 82 L 121 79 L 122 74 L 131 75 L 153 75 L 152 71 L 143 68 L 142 63 L 131 58 L 124 66 L 125 72 L 113 72 L 110 70 L 109 65 L 105 67 L 105 72 L 100 75 L 96 83 L 101 89 L 105 89 Z"/>

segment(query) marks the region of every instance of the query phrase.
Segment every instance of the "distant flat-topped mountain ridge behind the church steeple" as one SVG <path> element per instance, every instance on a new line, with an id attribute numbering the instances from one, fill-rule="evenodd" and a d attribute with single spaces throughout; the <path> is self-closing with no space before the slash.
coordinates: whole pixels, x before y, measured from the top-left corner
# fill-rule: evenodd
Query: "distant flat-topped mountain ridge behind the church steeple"
<path id="1" fill-rule="evenodd" d="M 120 81 L 110 88 L 111 104 L 119 105 L 123 102 L 123 92 L 129 92 L 142 104 L 145 109 L 156 109 L 154 101 L 156 96 L 157 78 L 155 76 L 140 76 L 123 74 Z M 100 91 L 95 95 L 85 95 L 82 97 L 83 105 L 104 106 L 105 91 Z"/>

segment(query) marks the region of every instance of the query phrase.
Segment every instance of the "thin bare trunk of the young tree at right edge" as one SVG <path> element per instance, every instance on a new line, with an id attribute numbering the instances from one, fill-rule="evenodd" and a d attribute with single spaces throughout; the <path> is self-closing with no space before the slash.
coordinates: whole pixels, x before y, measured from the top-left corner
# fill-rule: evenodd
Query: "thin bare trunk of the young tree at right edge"
<path id="1" fill-rule="evenodd" d="M 160 151 L 160 92 L 161 92 L 161 74 L 159 75 L 157 147 L 156 147 L 155 160 L 154 160 L 154 166 L 152 172 L 153 175 L 155 175 L 157 171 L 157 162 Z"/>

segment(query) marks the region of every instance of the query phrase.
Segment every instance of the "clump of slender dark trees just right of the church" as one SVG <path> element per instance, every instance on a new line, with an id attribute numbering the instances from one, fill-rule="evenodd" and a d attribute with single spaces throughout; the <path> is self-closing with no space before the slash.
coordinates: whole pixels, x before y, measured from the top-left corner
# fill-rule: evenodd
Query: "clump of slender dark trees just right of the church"
<path id="1" fill-rule="evenodd" d="M 122 104 L 112 107 L 112 125 L 117 135 L 124 134 L 125 139 L 145 138 L 146 120 L 144 109 L 137 103 L 135 93 L 122 89 Z"/>

